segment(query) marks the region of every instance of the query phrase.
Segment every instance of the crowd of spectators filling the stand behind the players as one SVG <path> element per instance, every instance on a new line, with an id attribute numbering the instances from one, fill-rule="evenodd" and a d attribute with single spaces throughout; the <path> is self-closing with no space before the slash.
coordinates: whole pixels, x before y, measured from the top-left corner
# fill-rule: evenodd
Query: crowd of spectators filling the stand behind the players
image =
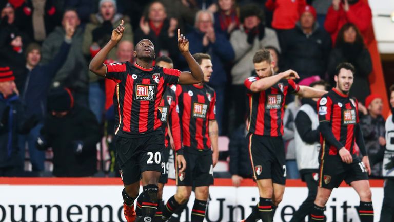
<path id="1" fill-rule="evenodd" d="M 234 184 L 251 177 L 244 80 L 253 75 L 252 58 L 261 48 L 270 49 L 275 72 L 291 68 L 304 85 L 325 80 L 334 86 L 336 65 L 352 63 L 357 72 L 350 95 L 360 103 L 368 154 L 385 145 L 382 106 L 388 104 L 370 95 L 371 10 L 362 0 L 1 0 L 0 9 L 0 176 L 48 175 L 43 150 L 49 147 L 58 177 L 93 176 L 97 156 L 103 159 L 96 143 L 106 143 L 114 155 L 115 83 L 94 75 L 88 64 L 121 20 L 123 39 L 108 63 L 133 62 L 134 44 L 146 38 L 156 57 L 167 55 L 174 68 L 185 70 L 178 28 L 191 54 L 210 54 L 208 85 L 217 95 L 219 132 L 230 138 L 220 158 L 229 159 Z M 294 122 L 304 101 L 290 95 L 286 102 L 287 176 L 299 178 Z M 22 172 L 25 154 L 31 168 Z M 114 171 L 113 162 L 105 169 Z M 372 176 L 381 177 L 381 169 L 377 164 Z"/>

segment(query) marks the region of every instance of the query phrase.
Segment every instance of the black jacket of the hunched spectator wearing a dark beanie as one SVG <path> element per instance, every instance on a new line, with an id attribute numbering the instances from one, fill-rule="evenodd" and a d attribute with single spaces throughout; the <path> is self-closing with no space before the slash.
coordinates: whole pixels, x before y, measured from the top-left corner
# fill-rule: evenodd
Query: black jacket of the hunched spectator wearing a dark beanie
<path id="1" fill-rule="evenodd" d="M 85 177 L 96 172 L 99 123 L 88 108 L 75 106 L 63 118 L 47 115 L 41 136 L 53 149 L 54 176 Z M 83 143 L 80 154 L 75 153 L 77 141 Z"/>

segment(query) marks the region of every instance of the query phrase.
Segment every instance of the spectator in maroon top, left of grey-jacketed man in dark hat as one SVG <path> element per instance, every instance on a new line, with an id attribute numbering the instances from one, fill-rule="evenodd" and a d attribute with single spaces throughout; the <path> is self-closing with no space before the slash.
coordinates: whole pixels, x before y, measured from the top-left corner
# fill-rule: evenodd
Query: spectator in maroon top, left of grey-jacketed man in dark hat
<path id="1" fill-rule="evenodd" d="M 215 30 L 221 31 L 230 37 L 230 34 L 240 26 L 240 20 L 235 7 L 235 0 L 219 0 L 219 10 L 215 16 Z"/>

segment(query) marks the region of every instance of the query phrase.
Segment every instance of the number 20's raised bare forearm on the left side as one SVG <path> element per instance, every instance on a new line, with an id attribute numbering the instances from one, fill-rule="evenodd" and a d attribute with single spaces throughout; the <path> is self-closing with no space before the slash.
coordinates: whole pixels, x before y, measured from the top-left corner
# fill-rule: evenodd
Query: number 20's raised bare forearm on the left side
<path id="1" fill-rule="evenodd" d="M 108 53 L 116 46 L 116 42 L 110 40 L 99 53 L 97 53 L 89 64 L 89 70 L 96 75 L 104 77 L 107 72 L 106 66 L 103 64 L 107 59 Z"/>

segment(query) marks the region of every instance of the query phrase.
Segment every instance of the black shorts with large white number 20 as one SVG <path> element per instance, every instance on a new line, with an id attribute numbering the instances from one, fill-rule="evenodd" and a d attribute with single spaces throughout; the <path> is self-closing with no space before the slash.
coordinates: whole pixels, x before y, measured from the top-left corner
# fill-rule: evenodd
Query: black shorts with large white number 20
<path id="1" fill-rule="evenodd" d="M 127 138 L 116 136 L 116 157 L 125 185 L 140 181 L 144 171 L 163 172 L 163 134 Z"/>

